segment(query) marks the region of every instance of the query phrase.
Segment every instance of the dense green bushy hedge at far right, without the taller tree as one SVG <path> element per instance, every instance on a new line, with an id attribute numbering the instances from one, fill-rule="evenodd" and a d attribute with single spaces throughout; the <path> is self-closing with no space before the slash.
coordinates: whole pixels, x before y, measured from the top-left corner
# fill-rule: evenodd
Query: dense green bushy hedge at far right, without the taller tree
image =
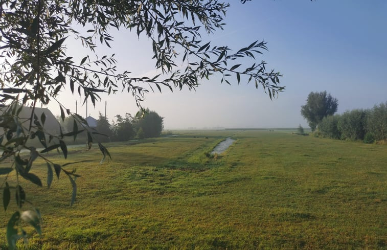
<path id="1" fill-rule="evenodd" d="M 347 141 L 384 142 L 387 139 L 387 102 L 371 109 L 354 109 L 342 115 L 327 116 L 314 134 Z"/>

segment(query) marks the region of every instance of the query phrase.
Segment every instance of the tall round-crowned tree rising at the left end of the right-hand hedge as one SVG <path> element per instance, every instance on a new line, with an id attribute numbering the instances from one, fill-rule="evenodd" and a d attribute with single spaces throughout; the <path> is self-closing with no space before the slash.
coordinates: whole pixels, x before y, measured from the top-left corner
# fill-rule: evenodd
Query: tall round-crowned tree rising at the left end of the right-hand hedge
<path id="1" fill-rule="evenodd" d="M 331 116 L 337 111 L 338 101 L 331 94 L 324 92 L 311 92 L 306 104 L 301 106 L 301 115 L 308 121 L 309 127 L 314 131 L 317 125 L 326 116 Z"/>

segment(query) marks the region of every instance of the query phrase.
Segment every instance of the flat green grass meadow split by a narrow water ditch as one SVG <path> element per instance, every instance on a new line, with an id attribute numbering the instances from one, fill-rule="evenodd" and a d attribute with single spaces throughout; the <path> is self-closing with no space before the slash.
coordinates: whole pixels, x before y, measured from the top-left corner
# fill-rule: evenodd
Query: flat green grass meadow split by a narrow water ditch
<path id="1" fill-rule="evenodd" d="M 175 131 L 177 137 L 69 151 L 50 189 L 22 179 L 42 214 L 41 237 L 20 249 L 386 249 L 387 146 L 287 130 Z M 224 153 L 208 152 L 232 136 Z M 207 155 L 206 155 L 207 153 Z M 31 172 L 45 183 L 47 167 Z M 10 176 L 8 182 L 15 180 Z M 15 211 L 2 212 L 0 248 Z M 23 210 L 30 208 L 25 204 Z M 32 228 L 25 227 L 29 232 Z"/>

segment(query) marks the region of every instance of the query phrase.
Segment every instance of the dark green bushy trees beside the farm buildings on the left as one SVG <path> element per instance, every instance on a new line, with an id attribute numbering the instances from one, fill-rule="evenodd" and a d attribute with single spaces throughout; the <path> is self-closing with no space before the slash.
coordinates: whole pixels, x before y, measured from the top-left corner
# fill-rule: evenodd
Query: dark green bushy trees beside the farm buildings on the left
<path id="1" fill-rule="evenodd" d="M 125 117 L 117 115 L 116 121 L 110 123 L 100 113 L 97 120 L 97 127 L 95 128 L 98 132 L 96 138 L 99 142 L 119 142 L 158 137 L 161 135 L 164 127 L 163 117 L 149 109 L 146 109 L 140 116 L 142 117 L 141 119 L 132 117 L 130 113 L 126 113 Z M 74 118 L 67 117 L 61 125 L 65 132 L 73 131 Z M 81 127 L 82 125 L 78 123 L 77 126 Z"/>

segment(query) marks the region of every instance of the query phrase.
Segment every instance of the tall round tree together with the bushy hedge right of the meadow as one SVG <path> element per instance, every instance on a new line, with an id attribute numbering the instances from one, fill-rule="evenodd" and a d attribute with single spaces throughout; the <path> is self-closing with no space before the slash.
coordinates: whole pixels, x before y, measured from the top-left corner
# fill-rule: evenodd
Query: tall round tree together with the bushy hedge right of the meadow
<path id="1" fill-rule="evenodd" d="M 348 141 L 387 139 L 387 102 L 372 109 L 354 109 L 342 115 L 334 115 L 338 101 L 324 92 L 311 92 L 301 115 L 308 121 L 316 135 Z"/>

